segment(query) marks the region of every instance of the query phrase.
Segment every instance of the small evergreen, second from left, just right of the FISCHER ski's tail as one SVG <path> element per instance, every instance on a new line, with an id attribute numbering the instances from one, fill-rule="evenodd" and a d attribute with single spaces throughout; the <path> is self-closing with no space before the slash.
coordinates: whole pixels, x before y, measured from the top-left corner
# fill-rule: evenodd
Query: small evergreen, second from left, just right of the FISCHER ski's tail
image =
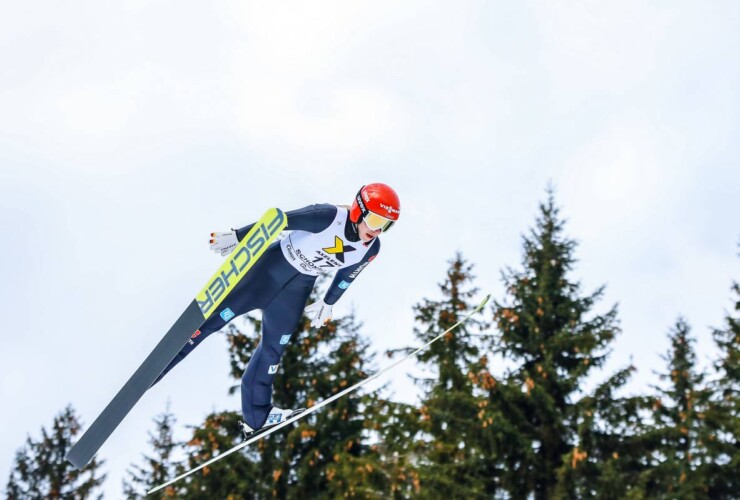
<path id="1" fill-rule="evenodd" d="M 132 465 L 128 471 L 128 480 L 124 480 L 123 493 L 126 498 L 143 498 L 146 492 L 173 477 L 182 474 L 184 468 L 173 458 L 180 443 L 173 439 L 175 416 L 169 410 L 154 419 L 155 432 L 149 433 L 149 444 L 153 455 L 144 455 L 144 465 Z M 153 493 L 149 498 L 177 498 L 178 484 Z"/>

